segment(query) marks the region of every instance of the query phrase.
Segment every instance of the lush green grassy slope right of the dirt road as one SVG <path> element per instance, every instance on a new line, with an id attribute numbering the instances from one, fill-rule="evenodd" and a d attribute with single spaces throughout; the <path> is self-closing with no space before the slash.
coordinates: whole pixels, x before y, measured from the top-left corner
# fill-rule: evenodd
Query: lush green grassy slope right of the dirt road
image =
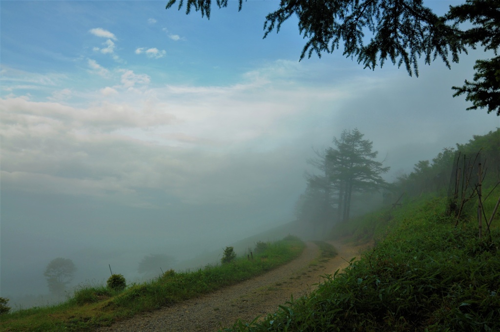
<path id="1" fill-rule="evenodd" d="M 385 239 L 344 272 L 224 331 L 500 330 L 500 228 L 479 240 L 475 222 L 454 228 L 444 208 L 435 198 L 393 212 Z"/>

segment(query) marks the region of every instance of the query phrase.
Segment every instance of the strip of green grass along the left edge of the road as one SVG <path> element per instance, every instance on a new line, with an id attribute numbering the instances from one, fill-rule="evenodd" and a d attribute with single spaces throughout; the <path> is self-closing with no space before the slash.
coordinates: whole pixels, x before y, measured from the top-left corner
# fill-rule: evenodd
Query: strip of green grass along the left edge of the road
<path id="1" fill-rule="evenodd" d="M 253 260 L 241 257 L 195 271 L 169 270 L 154 280 L 133 284 L 123 291 L 100 285 L 81 287 L 64 303 L 1 314 L 0 330 L 92 330 L 262 274 L 296 258 L 304 247 L 297 237 L 287 236 L 267 243 L 265 250 L 254 255 Z"/>

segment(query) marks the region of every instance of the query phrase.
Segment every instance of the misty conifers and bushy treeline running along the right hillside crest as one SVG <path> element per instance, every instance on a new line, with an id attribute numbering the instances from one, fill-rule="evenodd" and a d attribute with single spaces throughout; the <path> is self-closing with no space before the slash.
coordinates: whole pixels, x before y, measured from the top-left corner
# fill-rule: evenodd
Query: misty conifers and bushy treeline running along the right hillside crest
<path id="1" fill-rule="evenodd" d="M 309 235 L 318 236 L 333 223 L 347 221 L 375 205 L 394 203 L 401 195 L 447 193 L 456 151 L 480 152 L 485 167 L 484 184 L 500 180 L 500 128 L 485 135 L 474 135 L 465 144 L 445 147 L 431 160 L 415 163 L 409 174 L 399 175 L 393 183 L 383 180 L 389 170 L 376 161 L 372 141 L 363 139 L 358 129 L 344 130 L 333 137 L 333 147 L 315 151 L 307 160 L 317 173 L 306 173 L 307 187 L 295 204 L 297 222 Z"/>

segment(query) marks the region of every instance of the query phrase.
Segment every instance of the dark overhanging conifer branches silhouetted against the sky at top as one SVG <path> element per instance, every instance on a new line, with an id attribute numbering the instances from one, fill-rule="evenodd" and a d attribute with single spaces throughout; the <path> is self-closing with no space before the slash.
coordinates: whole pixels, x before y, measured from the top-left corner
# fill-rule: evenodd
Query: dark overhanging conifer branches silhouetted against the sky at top
<path id="1" fill-rule="evenodd" d="M 166 8 L 175 2 L 169 0 Z M 178 2 L 180 10 L 184 0 Z M 186 0 L 186 14 L 194 9 L 210 18 L 213 2 Z M 239 10 L 242 2 L 238 0 Z M 216 1 L 219 8 L 227 3 Z M 487 108 L 488 113 L 496 111 L 500 115 L 499 14 L 498 0 L 466 0 L 450 5 L 443 16 L 434 13 L 424 1 L 416 0 L 286 0 L 265 16 L 264 38 L 273 30 L 279 32 L 281 24 L 294 17 L 306 40 L 300 59 L 312 53 L 321 57 L 343 45 L 343 55 L 356 58 L 365 68 L 374 70 L 390 61 L 403 66 L 410 76 L 418 76 L 421 57 L 427 64 L 440 57 L 451 68 L 450 60 L 458 62 L 460 53 L 480 45 L 495 56 L 476 60 L 473 81 L 453 86 L 453 96 L 465 94 L 473 104 L 467 109 Z"/>

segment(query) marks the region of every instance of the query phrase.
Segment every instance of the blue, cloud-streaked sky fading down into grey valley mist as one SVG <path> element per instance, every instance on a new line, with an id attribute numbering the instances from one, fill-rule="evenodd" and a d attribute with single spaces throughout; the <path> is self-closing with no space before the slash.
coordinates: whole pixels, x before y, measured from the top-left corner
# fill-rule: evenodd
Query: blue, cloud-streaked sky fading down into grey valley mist
<path id="1" fill-rule="evenodd" d="M 0 2 L 0 295 L 46 293 L 55 257 L 80 281 L 108 264 L 132 278 L 144 255 L 290 221 L 307 158 L 343 129 L 373 141 L 391 181 L 500 126 L 452 97 L 480 49 L 451 69 L 422 61 L 418 78 L 341 50 L 299 61 L 294 17 L 262 38 L 276 0 L 209 20 L 166 2 Z"/>

